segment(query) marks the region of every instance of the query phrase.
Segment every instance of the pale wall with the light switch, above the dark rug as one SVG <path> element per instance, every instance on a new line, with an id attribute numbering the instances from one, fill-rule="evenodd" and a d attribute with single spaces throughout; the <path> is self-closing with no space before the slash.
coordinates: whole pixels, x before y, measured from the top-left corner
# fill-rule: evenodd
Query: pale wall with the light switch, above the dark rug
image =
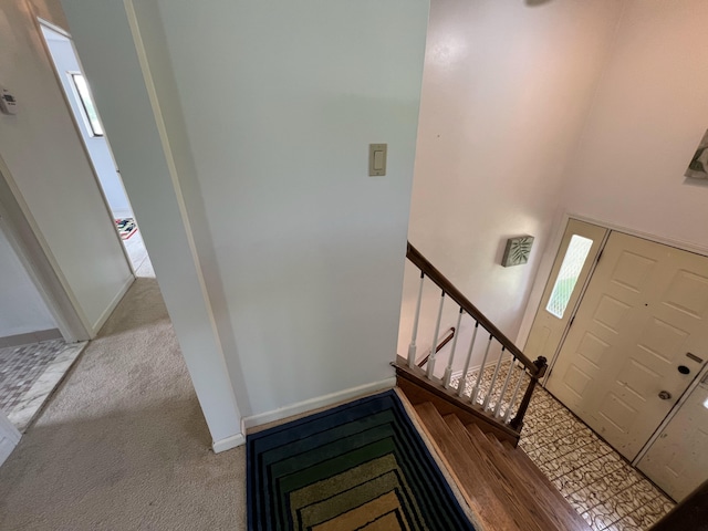
<path id="1" fill-rule="evenodd" d="M 158 4 L 243 413 L 389 378 L 427 2 Z"/>

